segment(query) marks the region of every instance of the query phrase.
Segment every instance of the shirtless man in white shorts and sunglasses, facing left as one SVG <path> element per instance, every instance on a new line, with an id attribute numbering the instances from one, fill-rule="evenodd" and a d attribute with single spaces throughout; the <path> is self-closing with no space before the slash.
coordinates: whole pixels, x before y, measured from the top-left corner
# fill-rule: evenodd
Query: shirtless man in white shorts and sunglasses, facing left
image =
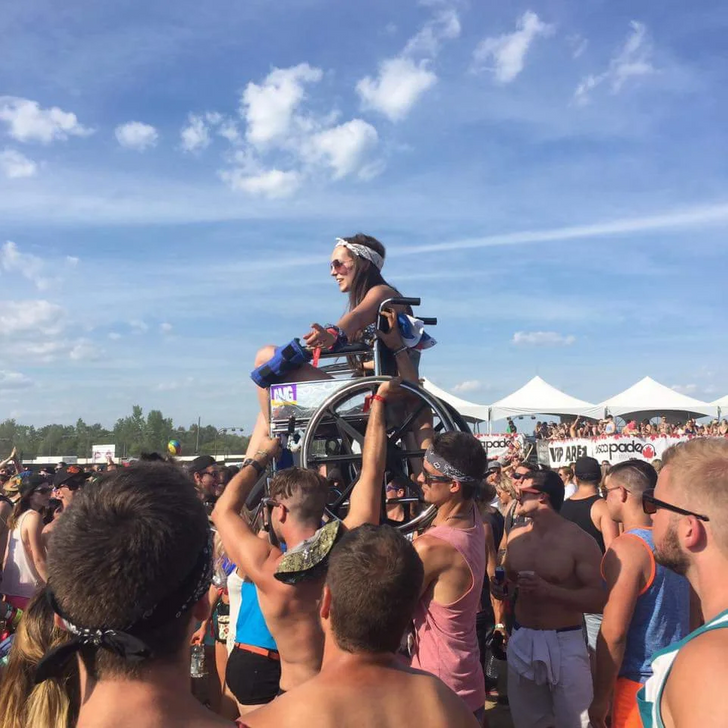
<path id="1" fill-rule="evenodd" d="M 585 612 L 599 612 L 606 594 L 594 539 L 559 515 L 564 484 L 553 471 L 518 484 L 517 515 L 528 526 L 511 532 L 506 589 L 518 588 L 508 642 L 508 699 L 515 728 L 586 728 L 592 700 Z M 504 590 L 491 584 L 496 597 Z"/>

